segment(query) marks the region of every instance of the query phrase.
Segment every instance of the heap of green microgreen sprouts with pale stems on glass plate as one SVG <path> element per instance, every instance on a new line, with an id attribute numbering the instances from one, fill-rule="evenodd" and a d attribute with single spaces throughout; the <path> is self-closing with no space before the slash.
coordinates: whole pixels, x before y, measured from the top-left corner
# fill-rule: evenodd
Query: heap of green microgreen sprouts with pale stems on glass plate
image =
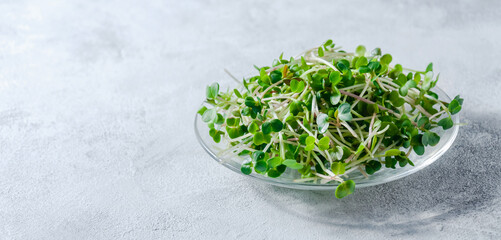
<path id="1" fill-rule="evenodd" d="M 240 90 L 208 86 L 198 113 L 214 142 L 228 144 L 221 154 L 247 156 L 243 174 L 277 178 L 289 168 L 302 181 L 339 182 L 343 198 L 355 189 L 348 173 L 413 166 L 410 153 L 437 145 L 435 129 L 452 128 L 462 108 L 459 96 L 448 103 L 431 91 L 433 64 L 416 71 L 392 60 L 379 48 L 350 53 L 328 40 L 256 67 Z"/>

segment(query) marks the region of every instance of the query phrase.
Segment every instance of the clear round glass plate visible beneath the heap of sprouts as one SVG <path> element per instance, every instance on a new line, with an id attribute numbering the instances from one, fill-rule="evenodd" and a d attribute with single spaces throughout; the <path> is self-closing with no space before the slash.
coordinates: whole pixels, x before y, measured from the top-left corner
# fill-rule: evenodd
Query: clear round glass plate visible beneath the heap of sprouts
<path id="1" fill-rule="evenodd" d="M 450 102 L 450 97 L 442 91 L 442 89 L 435 87 L 434 92 L 438 94 L 439 99 L 443 101 Z M 454 123 L 459 122 L 458 114 L 452 115 L 452 121 Z M 353 171 L 348 174 L 349 178 L 355 181 L 357 188 L 374 186 L 386 182 L 390 182 L 399 178 L 403 178 L 412 173 L 415 173 L 426 166 L 430 165 L 436 161 L 440 156 L 442 156 L 452 145 L 459 131 L 459 126 L 454 125 L 452 128 L 444 131 L 441 127 L 435 128 L 436 132 L 440 136 L 440 142 L 434 146 L 428 146 L 425 149 L 425 153 L 422 156 L 416 155 L 414 152 L 409 156 L 409 159 L 414 162 L 415 166 L 407 165 L 405 167 L 399 167 L 397 164 L 396 169 L 385 168 L 384 166 L 381 170 L 377 171 L 369 177 L 364 177 L 360 171 Z M 296 170 L 287 169 L 280 177 L 270 178 L 255 172 L 250 175 L 245 175 L 240 171 L 240 166 L 242 162 L 245 161 L 244 157 L 220 157 L 218 152 L 226 147 L 226 143 L 223 140 L 220 143 L 215 143 L 209 136 L 209 128 L 202 121 L 201 116 L 197 114 L 195 116 L 195 134 L 198 141 L 204 148 L 204 150 L 212 157 L 214 160 L 219 162 L 221 165 L 233 170 L 236 173 L 248 176 L 252 179 L 263 181 L 269 184 L 273 184 L 280 187 L 303 189 L 303 190 L 334 190 L 336 189 L 339 182 L 329 182 L 329 183 L 318 183 L 318 182 L 297 182 L 301 179 L 300 174 Z"/>

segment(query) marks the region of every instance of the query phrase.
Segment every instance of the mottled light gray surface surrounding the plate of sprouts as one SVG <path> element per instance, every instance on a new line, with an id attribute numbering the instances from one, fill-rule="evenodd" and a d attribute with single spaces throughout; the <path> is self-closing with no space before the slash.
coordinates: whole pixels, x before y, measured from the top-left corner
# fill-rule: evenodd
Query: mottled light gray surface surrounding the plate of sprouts
<path id="1" fill-rule="evenodd" d="M 307 3 L 308 2 L 308 3 Z M 499 239 L 500 1 L 1 1 L 0 239 Z M 465 98 L 423 171 L 333 192 L 212 160 L 205 86 L 332 38 Z"/>

